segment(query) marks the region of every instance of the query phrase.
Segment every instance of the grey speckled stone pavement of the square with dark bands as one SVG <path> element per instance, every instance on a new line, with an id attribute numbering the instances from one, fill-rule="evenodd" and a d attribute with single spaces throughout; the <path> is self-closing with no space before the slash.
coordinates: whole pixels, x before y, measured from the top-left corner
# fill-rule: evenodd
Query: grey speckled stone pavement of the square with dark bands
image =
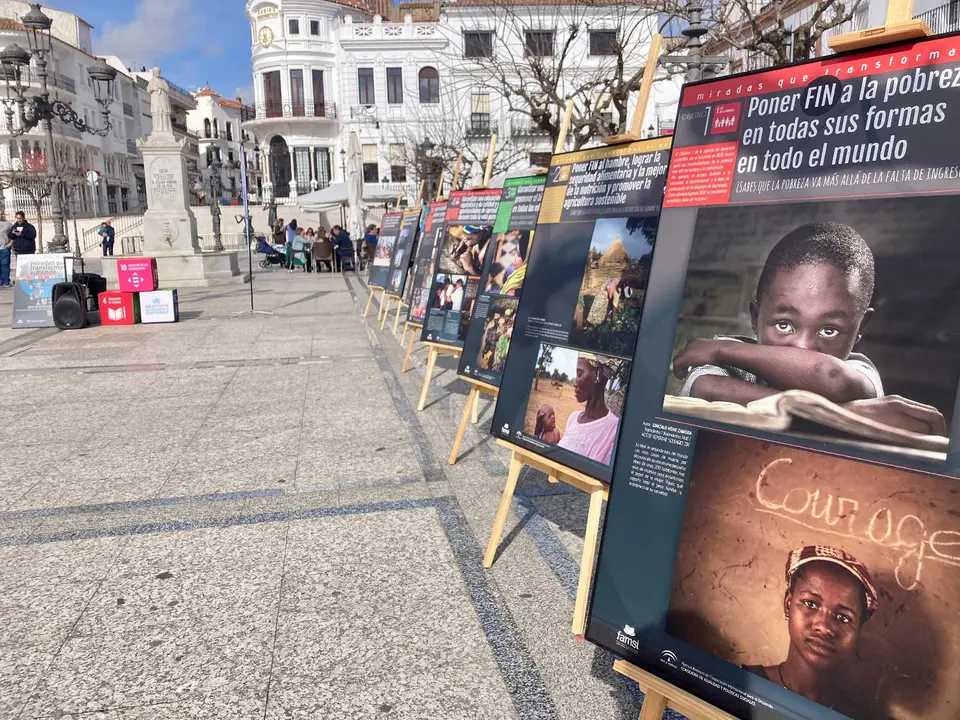
<path id="1" fill-rule="evenodd" d="M 0 328 L 0 718 L 635 718 L 569 633 L 586 497 L 527 473 L 484 570 L 507 456 L 446 464 L 453 363 L 417 413 L 359 278 L 254 279 Z"/>

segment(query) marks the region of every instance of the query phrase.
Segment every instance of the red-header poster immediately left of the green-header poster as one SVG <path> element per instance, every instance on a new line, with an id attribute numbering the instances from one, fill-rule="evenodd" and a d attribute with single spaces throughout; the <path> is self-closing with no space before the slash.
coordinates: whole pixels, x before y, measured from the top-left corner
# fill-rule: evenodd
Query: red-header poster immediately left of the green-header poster
<path id="1" fill-rule="evenodd" d="M 463 347 L 480 273 L 493 234 L 500 190 L 456 190 L 447 200 L 443 232 L 427 290 L 427 315 L 420 339 Z"/>

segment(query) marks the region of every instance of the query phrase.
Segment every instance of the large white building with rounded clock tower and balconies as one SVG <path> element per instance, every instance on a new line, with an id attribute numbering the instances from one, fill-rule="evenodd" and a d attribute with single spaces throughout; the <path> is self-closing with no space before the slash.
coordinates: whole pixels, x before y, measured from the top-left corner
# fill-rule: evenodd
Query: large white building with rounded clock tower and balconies
<path id="1" fill-rule="evenodd" d="M 532 53 L 549 62 L 564 53 L 570 70 L 560 77 L 561 91 L 584 87 L 612 73 L 611 42 L 627 50 L 625 75 L 642 72 L 658 20 L 623 3 L 451 0 L 393 8 L 371 2 L 377 4 L 248 0 L 256 117 L 244 128 L 259 141 L 268 199 L 292 202 L 342 181 L 351 131 L 362 144 L 364 182 L 402 186 L 408 194 L 418 175 L 429 172 L 427 139 L 485 157 L 496 133 L 498 147 L 511 153 L 501 166 L 542 164 L 553 149 L 549 137 L 511 112 L 489 81 L 478 80 L 489 72 L 488 59 Z M 504 8 L 514 25 L 522 24 L 512 33 L 504 30 Z M 564 29 L 574 22 L 584 31 L 567 47 Z M 668 125 L 662 121 L 672 122 L 677 95 L 676 86 L 656 86 L 642 127 L 656 132 Z"/>

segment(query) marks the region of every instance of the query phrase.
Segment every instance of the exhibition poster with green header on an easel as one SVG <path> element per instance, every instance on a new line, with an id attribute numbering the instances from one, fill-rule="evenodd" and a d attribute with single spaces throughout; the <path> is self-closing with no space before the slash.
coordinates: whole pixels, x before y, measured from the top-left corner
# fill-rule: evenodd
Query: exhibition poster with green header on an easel
<path id="1" fill-rule="evenodd" d="M 503 183 L 492 244 L 460 355 L 460 375 L 500 385 L 546 182 L 546 175 L 534 175 Z"/>

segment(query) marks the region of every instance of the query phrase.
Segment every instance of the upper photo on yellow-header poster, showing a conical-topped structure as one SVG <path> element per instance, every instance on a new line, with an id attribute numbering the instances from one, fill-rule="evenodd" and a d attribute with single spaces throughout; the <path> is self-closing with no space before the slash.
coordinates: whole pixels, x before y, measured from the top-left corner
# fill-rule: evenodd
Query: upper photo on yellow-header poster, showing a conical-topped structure
<path id="1" fill-rule="evenodd" d="M 656 219 L 602 218 L 593 228 L 570 343 L 633 355 L 650 275 Z"/>

